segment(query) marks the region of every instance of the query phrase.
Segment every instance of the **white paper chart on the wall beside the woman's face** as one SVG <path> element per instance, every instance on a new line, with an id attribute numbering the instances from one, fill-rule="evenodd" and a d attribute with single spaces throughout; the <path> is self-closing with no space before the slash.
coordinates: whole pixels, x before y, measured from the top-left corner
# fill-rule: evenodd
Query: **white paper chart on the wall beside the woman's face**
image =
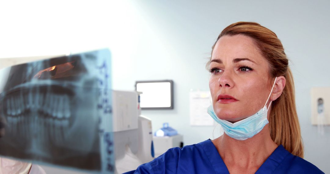
<path id="1" fill-rule="evenodd" d="M 213 126 L 214 121 L 207 113 L 211 104 L 209 91 L 190 92 L 190 125 L 191 126 Z"/>

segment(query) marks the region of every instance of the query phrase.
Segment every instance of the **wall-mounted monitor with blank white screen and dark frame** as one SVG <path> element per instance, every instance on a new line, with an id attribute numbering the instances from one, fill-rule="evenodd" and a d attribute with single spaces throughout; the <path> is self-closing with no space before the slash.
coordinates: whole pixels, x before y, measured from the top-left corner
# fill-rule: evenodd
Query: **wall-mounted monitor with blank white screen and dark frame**
<path id="1" fill-rule="evenodd" d="M 173 109 L 173 80 L 137 81 L 142 109 Z"/>

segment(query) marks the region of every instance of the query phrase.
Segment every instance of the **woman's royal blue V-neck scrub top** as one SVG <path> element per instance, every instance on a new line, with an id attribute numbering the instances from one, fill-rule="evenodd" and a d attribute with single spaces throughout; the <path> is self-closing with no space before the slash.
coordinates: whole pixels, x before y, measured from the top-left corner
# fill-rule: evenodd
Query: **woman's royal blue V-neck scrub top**
<path id="1" fill-rule="evenodd" d="M 228 169 L 210 139 L 198 144 L 169 149 L 158 158 L 140 165 L 137 173 L 226 173 Z M 256 173 L 323 173 L 312 163 L 292 155 L 282 145 L 266 159 Z"/>

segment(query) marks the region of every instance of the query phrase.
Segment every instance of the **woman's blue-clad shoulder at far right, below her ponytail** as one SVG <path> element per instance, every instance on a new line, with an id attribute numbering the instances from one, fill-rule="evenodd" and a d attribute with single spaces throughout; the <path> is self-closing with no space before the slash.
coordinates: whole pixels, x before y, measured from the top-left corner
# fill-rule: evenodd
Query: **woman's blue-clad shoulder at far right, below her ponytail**
<path id="1" fill-rule="evenodd" d="M 285 164 L 289 173 L 324 173 L 311 162 L 291 153 L 285 158 Z"/>

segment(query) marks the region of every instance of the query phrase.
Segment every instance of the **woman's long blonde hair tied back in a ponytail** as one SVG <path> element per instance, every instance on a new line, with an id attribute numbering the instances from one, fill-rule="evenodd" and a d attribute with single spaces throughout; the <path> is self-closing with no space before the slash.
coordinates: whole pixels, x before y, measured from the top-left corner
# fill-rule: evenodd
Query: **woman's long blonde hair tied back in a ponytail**
<path id="1" fill-rule="evenodd" d="M 282 144 L 291 154 L 303 158 L 304 148 L 296 111 L 293 76 L 281 41 L 274 32 L 256 22 L 236 22 L 222 30 L 215 44 L 222 36 L 238 34 L 253 40 L 261 55 L 268 61 L 272 78 L 285 77 L 283 93 L 272 103 L 269 117 L 270 135 L 276 144 Z M 211 58 L 206 65 L 207 68 L 210 61 Z"/>

